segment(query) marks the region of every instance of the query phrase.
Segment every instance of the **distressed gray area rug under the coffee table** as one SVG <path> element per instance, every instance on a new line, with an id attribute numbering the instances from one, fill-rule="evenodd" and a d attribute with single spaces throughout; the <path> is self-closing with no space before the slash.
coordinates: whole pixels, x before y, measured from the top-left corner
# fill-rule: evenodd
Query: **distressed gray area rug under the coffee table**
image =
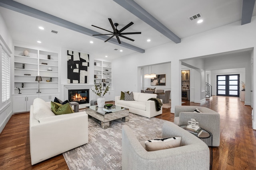
<path id="1" fill-rule="evenodd" d="M 88 119 L 89 142 L 63 153 L 70 170 L 121 170 L 122 125 L 128 125 L 139 141 L 146 141 L 161 138 L 165 122 L 130 113 L 130 121 L 117 119 L 108 129 L 102 129 L 94 120 Z"/>

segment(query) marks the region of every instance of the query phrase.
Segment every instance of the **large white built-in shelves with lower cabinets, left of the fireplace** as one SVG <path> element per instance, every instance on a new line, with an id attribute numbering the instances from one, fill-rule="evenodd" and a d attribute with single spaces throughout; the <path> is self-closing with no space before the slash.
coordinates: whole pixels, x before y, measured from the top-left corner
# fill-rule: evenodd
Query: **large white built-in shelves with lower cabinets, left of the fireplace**
<path id="1" fill-rule="evenodd" d="M 29 111 L 35 98 L 49 102 L 60 96 L 58 53 L 15 46 L 13 73 L 14 113 Z M 42 77 L 40 93 L 36 76 Z"/>

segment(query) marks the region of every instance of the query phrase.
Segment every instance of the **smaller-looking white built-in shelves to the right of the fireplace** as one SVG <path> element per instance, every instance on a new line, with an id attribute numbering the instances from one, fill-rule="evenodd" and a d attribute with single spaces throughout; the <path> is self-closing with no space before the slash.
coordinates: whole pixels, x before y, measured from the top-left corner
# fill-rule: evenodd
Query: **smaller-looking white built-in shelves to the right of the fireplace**
<path id="1" fill-rule="evenodd" d="M 111 63 L 106 61 L 94 60 L 94 84 L 101 84 L 102 79 L 105 80 L 102 83 L 103 86 L 108 86 L 112 89 L 112 68 Z"/>

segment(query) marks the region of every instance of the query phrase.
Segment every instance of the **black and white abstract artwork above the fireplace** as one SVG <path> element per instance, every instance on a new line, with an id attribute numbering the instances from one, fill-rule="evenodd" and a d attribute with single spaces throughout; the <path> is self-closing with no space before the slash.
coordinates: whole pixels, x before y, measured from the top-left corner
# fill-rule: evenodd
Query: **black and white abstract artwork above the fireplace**
<path id="1" fill-rule="evenodd" d="M 68 83 L 87 83 L 89 55 L 68 50 Z"/>

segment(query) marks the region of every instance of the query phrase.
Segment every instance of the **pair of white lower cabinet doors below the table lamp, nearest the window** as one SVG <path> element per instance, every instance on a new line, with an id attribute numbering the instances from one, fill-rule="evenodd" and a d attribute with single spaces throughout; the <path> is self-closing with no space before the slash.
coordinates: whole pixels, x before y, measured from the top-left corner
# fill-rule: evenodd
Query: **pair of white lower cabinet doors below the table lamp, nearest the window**
<path id="1" fill-rule="evenodd" d="M 30 106 L 33 105 L 35 98 L 38 98 L 38 94 L 13 96 L 13 113 L 30 111 Z"/>

